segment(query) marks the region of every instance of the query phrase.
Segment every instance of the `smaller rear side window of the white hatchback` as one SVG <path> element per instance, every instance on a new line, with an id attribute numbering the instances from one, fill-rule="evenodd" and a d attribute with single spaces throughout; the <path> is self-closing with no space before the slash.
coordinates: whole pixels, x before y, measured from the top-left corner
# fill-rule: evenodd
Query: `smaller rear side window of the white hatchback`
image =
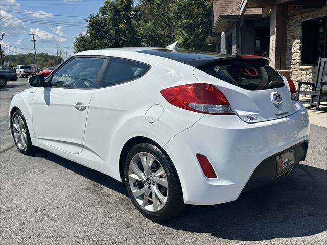
<path id="1" fill-rule="evenodd" d="M 99 87 L 112 86 L 142 77 L 150 66 L 134 60 L 110 58 L 109 66 Z"/>

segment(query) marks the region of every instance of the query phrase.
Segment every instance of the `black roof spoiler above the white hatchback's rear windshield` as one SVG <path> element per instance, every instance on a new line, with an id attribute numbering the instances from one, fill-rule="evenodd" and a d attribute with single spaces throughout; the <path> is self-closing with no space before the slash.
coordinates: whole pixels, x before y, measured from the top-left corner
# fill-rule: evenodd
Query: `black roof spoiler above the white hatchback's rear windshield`
<path id="1" fill-rule="evenodd" d="M 199 66 L 212 63 L 215 61 L 232 60 L 232 59 L 264 59 L 267 61 L 267 65 L 269 65 L 270 63 L 270 59 L 268 57 L 264 57 L 260 55 L 233 55 L 233 56 L 226 56 L 226 57 L 208 57 L 208 58 L 201 58 L 195 60 L 186 60 L 186 61 L 182 61 L 182 63 L 197 68 Z"/>

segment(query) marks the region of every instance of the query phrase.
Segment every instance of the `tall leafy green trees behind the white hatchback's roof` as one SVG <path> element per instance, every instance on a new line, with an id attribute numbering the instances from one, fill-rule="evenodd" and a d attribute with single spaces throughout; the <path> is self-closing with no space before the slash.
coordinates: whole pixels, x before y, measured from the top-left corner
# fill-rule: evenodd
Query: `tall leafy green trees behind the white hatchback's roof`
<path id="1" fill-rule="evenodd" d="M 211 50 L 212 2 L 208 0 L 106 0 L 91 15 L 86 34 L 78 35 L 74 51 L 133 46 Z"/>

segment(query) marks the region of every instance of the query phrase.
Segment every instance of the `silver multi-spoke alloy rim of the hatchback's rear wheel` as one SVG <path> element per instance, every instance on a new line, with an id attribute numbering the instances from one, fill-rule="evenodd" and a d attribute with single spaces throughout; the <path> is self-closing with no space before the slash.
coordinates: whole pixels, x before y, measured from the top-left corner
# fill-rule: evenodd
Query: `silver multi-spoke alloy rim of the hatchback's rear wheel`
<path id="1" fill-rule="evenodd" d="M 128 168 L 128 180 L 137 203 L 145 210 L 157 212 L 164 208 L 168 197 L 165 169 L 150 153 L 137 153 Z"/>

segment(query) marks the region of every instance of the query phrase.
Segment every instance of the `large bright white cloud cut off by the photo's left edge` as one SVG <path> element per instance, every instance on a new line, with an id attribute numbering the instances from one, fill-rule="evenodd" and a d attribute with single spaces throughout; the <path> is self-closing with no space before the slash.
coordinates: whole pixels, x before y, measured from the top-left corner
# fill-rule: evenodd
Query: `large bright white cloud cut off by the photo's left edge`
<path id="1" fill-rule="evenodd" d="M 0 10 L 0 15 L 2 32 L 12 35 L 26 33 L 25 24 L 20 19 L 16 18 L 12 14 L 7 13 L 4 10 Z"/>

